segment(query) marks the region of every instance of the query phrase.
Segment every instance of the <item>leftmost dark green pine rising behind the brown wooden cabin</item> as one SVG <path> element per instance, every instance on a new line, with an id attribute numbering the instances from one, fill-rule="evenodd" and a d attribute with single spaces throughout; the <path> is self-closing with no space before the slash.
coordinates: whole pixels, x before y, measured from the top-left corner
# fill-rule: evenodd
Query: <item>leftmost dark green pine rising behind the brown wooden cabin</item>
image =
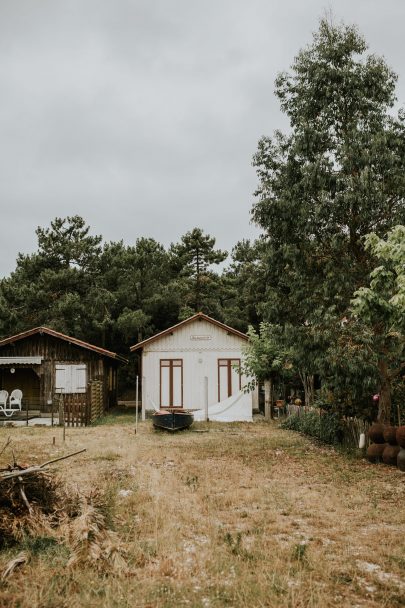
<path id="1" fill-rule="evenodd" d="M 88 294 L 96 280 L 101 236 L 91 236 L 79 216 L 56 218 L 49 228 L 38 228 L 38 251 L 19 254 L 16 270 L 1 282 L 8 303 L 2 315 L 7 335 L 49 325 L 86 337 Z"/>

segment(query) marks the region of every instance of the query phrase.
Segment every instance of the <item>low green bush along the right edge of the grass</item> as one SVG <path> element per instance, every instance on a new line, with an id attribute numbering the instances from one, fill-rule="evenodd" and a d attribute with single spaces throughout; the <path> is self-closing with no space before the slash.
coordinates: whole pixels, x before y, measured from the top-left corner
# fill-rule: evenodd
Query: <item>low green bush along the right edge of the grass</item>
<path id="1" fill-rule="evenodd" d="M 305 412 L 300 416 L 291 416 L 281 424 L 281 427 L 304 433 L 331 445 L 340 444 L 343 440 L 342 423 L 337 414 L 330 412 L 319 414 L 318 411 L 313 411 Z"/>

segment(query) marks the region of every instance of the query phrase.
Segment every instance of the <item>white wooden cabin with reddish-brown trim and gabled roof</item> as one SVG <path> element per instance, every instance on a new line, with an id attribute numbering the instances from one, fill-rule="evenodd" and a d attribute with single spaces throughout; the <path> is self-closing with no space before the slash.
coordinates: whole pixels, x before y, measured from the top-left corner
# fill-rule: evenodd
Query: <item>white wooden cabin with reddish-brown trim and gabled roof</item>
<path id="1" fill-rule="evenodd" d="M 257 392 L 241 373 L 246 334 L 197 313 L 131 351 L 142 356 L 142 411 L 194 410 L 195 420 L 252 420 Z"/>

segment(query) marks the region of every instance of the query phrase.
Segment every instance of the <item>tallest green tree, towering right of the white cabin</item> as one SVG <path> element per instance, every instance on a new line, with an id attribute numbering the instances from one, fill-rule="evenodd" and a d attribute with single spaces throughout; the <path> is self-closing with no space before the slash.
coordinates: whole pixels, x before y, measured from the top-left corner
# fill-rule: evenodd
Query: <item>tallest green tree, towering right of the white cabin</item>
<path id="1" fill-rule="evenodd" d="M 404 222 L 405 124 L 393 110 L 396 80 L 382 58 L 367 53 L 357 28 L 327 20 L 276 80 L 291 129 L 262 138 L 254 157 L 252 215 L 263 229 L 267 285 L 259 311 L 292 328 L 303 357 L 314 343 L 330 347 L 320 336 L 339 327 L 372 270 L 365 235 L 382 237 Z"/>

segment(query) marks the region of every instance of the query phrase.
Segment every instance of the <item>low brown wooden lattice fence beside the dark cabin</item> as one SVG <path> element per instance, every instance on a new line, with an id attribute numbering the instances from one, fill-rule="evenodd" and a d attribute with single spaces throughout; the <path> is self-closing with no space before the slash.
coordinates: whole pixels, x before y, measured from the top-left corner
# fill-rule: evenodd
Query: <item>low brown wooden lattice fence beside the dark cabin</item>
<path id="1" fill-rule="evenodd" d="M 104 413 L 103 383 L 89 382 L 85 393 L 58 394 L 59 421 L 65 426 L 87 426 Z"/>

